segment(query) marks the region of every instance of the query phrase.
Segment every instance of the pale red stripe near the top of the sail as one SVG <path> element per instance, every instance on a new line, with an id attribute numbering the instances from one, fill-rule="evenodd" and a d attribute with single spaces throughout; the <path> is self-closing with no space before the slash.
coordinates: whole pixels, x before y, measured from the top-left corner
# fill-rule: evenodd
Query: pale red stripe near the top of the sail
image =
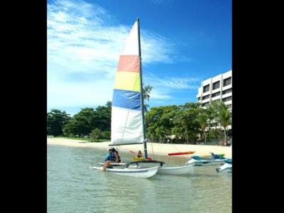
<path id="1" fill-rule="evenodd" d="M 120 55 L 117 72 L 139 72 L 139 65 L 140 63 L 138 55 Z"/>

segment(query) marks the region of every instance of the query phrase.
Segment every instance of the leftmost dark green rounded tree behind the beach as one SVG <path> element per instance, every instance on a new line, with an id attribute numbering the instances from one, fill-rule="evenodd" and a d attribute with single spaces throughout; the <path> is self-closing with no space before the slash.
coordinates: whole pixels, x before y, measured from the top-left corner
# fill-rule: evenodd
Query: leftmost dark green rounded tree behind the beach
<path id="1" fill-rule="evenodd" d="M 68 121 L 70 121 L 70 115 L 65 111 L 59 109 L 52 109 L 47 115 L 47 133 L 53 136 L 62 136 L 62 128 Z"/>

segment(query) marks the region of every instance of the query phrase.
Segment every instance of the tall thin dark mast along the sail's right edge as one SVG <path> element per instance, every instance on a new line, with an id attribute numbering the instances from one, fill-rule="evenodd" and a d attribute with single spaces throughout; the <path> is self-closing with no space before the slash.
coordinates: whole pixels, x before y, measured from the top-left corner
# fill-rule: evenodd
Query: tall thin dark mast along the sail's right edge
<path id="1" fill-rule="evenodd" d="M 141 111 L 142 111 L 142 122 L 143 122 L 143 145 L 144 145 L 144 155 L 148 158 L 147 154 L 147 142 L 146 142 L 146 126 L 145 126 L 145 116 L 144 116 L 144 100 L 143 100 L 143 84 L 142 84 L 142 61 L 141 61 L 141 45 L 140 45 L 140 22 L 137 18 L 138 25 L 138 50 L 139 50 L 139 60 L 140 60 L 140 85 L 141 85 Z"/>

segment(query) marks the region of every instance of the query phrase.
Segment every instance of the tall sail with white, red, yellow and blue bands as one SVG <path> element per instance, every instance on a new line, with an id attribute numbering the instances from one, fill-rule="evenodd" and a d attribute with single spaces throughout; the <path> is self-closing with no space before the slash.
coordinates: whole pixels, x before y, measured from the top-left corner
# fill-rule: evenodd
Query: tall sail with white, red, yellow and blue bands
<path id="1" fill-rule="evenodd" d="M 138 23 L 134 23 L 116 70 L 111 106 L 111 145 L 143 143 Z"/>

